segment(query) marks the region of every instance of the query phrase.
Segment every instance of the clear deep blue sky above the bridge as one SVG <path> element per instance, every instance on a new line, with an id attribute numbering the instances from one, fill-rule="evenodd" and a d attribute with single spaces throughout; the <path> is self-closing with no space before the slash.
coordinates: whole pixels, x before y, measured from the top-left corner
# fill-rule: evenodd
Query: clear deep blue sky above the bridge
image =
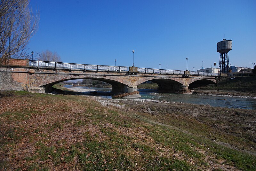
<path id="1" fill-rule="evenodd" d="M 256 1 L 31 0 L 40 12 L 31 51 L 56 51 L 62 62 L 200 69 L 219 62 L 217 45 L 233 40 L 229 62 L 256 63 Z"/>

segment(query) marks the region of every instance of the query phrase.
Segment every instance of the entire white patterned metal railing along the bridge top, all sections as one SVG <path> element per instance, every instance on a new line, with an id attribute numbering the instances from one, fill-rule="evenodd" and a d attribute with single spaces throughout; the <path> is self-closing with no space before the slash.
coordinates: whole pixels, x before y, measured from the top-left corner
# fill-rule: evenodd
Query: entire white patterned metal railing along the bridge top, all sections
<path id="1" fill-rule="evenodd" d="M 29 66 L 36 67 L 52 67 L 52 68 L 64 68 L 64 69 L 78 69 L 88 71 L 118 71 L 128 72 L 129 66 L 105 66 L 105 65 L 88 65 L 88 64 L 72 64 L 63 62 L 47 62 L 47 61 L 35 61 L 29 60 Z M 151 73 L 151 74 L 174 74 L 184 75 L 185 71 L 180 70 L 167 70 L 167 69 L 153 69 L 153 68 L 138 68 L 139 73 Z M 189 75 L 202 75 L 202 76 L 219 76 L 219 73 L 203 73 L 188 71 Z"/>

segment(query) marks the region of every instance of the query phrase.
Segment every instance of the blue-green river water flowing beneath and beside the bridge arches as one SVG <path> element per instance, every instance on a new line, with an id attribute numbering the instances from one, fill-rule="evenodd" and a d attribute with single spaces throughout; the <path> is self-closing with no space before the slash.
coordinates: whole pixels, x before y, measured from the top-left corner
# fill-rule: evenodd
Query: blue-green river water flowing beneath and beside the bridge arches
<path id="1" fill-rule="evenodd" d="M 83 92 L 85 95 L 94 95 L 92 92 L 97 91 L 97 96 L 104 98 L 112 98 L 106 92 L 110 92 L 111 88 L 96 88 L 65 85 L 65 87 Z M 84 91 L 83 91 L 84 90 Z M 195 94 L 172 94 L 158 93 L 153 89 L 138 89 L 142 99 L 154 99 L 159 101 L 191 103 L 198 105 L 211 105 L 215 107 L 228 107 L 239 109 L 256 110 L 256 99 L 240 98 L 240 97 L 223 97 L 210 95 L 195 95 Z"/>

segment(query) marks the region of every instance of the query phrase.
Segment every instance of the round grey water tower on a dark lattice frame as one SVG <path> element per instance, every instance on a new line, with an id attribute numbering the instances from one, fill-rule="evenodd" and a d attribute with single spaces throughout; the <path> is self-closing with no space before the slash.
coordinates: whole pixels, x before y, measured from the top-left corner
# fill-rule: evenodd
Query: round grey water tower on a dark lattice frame
<path id="1" fill-rule="evenodd" d="M 217 43 L 217 52 L 220 53 L 219 72 L 230 76 L 230 67 L 228 61 L 228 52 L 232 50 L 232 40 L 225 38 Z"/>

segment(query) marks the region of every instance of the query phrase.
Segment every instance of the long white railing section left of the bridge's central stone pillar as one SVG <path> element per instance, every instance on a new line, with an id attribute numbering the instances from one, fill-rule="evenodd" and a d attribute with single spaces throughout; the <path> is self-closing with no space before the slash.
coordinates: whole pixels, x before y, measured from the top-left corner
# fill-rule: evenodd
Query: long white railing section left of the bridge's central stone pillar
<path id="1" fill-rule="evenodd" d="M 47 62 L 47 61 L 35 61 L 35 60 L 29 60 L 29 66 L 78 69 L 78 70 L 95 70 L 95 71 L 119 71 L 119 72 L 129 71 L 129 67 L 127 66 L 72 64 L 72 63 L 64 63 L 64 62 Z"/>

